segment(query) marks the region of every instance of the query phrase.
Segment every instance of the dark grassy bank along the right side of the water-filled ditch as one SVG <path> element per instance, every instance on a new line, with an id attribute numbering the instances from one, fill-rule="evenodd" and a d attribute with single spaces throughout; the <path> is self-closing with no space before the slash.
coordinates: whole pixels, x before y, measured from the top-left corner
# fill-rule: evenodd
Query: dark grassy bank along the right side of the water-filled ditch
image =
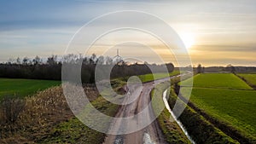
<path id="1" fill-rule="evenodd" d="M 174 92 L 174 88 L 170 90 L 170 97 L 168 103 L 173 109 L 175 105 L 177 107 L 185 107 L 183 113 L 178 118 L 185 129 L 188 131 L 190 137 L 196 143 L 238 143 L 237 141 L 225 135 L 221 130 L 218 130 L 214 125 L 209 123 L 206 118 L 203 118 L 200 113 L 195 112 L 189 106 L 186 106 L 182 100 L 180 100 Z"/>

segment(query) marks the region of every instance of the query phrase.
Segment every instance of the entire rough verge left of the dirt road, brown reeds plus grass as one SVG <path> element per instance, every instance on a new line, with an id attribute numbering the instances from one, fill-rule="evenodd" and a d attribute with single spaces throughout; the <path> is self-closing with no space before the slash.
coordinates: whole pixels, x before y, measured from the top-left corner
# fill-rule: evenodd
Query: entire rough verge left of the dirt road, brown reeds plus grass
<path id="1" fill-rule="evenodd" d="M 124 84 L 113 80 L 114 89 Z M 114 116 L 119 106 L 102 98 L 95 88 L 84 88 L 91 104 Z M 16 105 L 19 103 L 19 105 Z M 11 108 L 10 113 L 6 105 Z M 20 111 L 16 111 L 20 109 Z M 8 113 L 7 113 L 8 112 Z M 15 121 L 9 119 L 9 115 Z M 105 134 L 91 130 L 73 116 L 61 86 L 45 89 L 22 100 L 2 103 L 0 107 L 0 143 L 102 143 Z M 110 122 L 109 122 L 110 123 Z M 106 128 L 107 129 L 107 128 Z"/>

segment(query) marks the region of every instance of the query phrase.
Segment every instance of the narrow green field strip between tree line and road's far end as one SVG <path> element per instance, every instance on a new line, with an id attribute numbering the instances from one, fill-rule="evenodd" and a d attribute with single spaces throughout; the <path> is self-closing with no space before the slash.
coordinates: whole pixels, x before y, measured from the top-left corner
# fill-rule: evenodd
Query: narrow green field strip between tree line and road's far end
<path id="1" fill-rule="evenodd" d="M 145 74 L 145 75 L 140 75 L 139 78 L 142 80 L 143 83 L 145 83 L 145 82 L 153 81 L 155 79 L 171 77 L 177 74 L 179 74 L 179 71 L 173 71 L 171 73 L 154 73 L 154 75 Z"/>

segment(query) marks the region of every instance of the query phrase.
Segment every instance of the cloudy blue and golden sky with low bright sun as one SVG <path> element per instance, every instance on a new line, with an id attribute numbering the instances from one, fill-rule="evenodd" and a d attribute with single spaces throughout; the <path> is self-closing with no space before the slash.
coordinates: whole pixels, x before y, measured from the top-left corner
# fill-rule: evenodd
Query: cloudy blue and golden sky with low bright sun
<path id="1" fill-rule="evenodd" d="M 114 11 L 138 10 L 165 20 L 183 40 L 195 66 L 199 63 L 203 66 L 256 66 L 255 5 L 255 0 L 2 1 L 0 61 L 25 56 L 64 55 L 73 35 L 90 20 Z M 137 20 L 137 25 L 142 23 Z M 106 20 L 101 26 L 105 25 L 114 24 Z M 116 43 L 122 38 L 137 39 L 141 43 Z M 165 61 L 175 63 L 173 54 L 153 39 L 143 32 L 113 32 L 102 37 L 88 55 L 101 55 L 100 51 L 107 45 L 112 48 L 106 53 L 109 56 L 114 56 L 115 49 L 120 49 L 120 55 L 124 57 L 137 56 L 158 63 L 153 50 Z M 143 44 L 146 42 L 151 42 L 148 51 Z M 77 49 L 76 53 L 84 54 L 84 51 Z"/>

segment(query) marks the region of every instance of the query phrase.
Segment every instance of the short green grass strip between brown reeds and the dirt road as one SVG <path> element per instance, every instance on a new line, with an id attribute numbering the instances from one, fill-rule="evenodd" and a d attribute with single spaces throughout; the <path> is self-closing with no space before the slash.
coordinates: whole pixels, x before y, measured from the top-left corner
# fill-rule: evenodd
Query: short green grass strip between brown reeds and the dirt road
<path id="1" fill-rule="evenodd" d="M 125 84 L 119 79 L 112 80 L 111 84 L 115 91 L 119 91 L 121 87 Z M 122 91 L 122 90 L 121 90 Z M 96 100 L 91 101 L 93 107 L 98 111 L 114 117 L 116 112 L 119 110 L 119 105 L 115 105 L 109 101 L 106 101 L 101 95 L 99 95 Z M 85 110 L 86 111 L 86 110 Z M 90 113 L 92 117 L 95 113 L 86 112 L 86 115 Z M 96 116 L 97 117 L 97 116 Z M 102 121 L 102 118 L 95 119 L 93 124 L 97 124 L 96 121 Z M 109 126 L 111 121 L 105 122 L 103 126 Z M 102 128 L 102 129 L 108 129 Z M 105 139 L 106 134 L 98 132 L 96 130 L 91 130 L 85 124 L 79 121 L 78 118 L 70 118 L 67 122 L 56 125 L 50 133 L 50 136 L 42 141 L 42 143 L 93 143 L 93 144 L 102 144 Z"/>

